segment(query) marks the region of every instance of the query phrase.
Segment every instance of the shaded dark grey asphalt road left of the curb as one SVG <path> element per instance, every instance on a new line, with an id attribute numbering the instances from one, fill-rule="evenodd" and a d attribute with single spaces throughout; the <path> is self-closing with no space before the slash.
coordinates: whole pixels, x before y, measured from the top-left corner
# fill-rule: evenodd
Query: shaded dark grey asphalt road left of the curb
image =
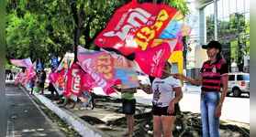
<path id="1" fill-rule="evenodd" d="M 6 119 L 7 137 L 65 136 L 25 91 L 11 84 L 6 84 Z"/>

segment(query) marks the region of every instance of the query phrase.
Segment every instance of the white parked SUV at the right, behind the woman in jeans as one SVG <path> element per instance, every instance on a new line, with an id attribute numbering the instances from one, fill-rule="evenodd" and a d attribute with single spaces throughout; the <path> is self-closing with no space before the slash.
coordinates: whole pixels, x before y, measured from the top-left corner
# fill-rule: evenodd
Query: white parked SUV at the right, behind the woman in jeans
<path id="1" fill-rule="evenodd" d="M 228 74 L 228 93 L 233 93 L 233 96 L 240 97 L 246 93 L 250 96 L 250 74 L 249 73 L 229 73 Z"/>

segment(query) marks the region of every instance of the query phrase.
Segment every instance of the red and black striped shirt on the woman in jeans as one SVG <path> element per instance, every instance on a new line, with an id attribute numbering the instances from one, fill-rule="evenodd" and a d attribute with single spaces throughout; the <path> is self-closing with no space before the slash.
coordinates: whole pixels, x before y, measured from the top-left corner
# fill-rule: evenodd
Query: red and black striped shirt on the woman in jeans
<path id="1" fill-rule="evenodd" d="M 221 78 L 228 77 L 228 64 L 224 60 L 210 64 L 210 60 L 207 60 L 201 68 L 200 75 L 203 76 L 202 91 L 220 91 Z"/>

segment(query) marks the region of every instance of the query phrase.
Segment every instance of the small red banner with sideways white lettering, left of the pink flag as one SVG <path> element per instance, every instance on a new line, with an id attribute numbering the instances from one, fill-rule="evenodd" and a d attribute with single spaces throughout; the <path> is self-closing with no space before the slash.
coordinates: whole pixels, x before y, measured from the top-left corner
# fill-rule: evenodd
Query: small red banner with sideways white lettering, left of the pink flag
<path id="1" fill-rule="evenodd" d="M 72 99 L 74 97 L 77 100 L 78 96 L 82 93 L 83 73 L 83 69 L 79 68 L 77 63 L 72 64 L 67 72 L 65 90 L 62 93 L 63 96 Z"/>

